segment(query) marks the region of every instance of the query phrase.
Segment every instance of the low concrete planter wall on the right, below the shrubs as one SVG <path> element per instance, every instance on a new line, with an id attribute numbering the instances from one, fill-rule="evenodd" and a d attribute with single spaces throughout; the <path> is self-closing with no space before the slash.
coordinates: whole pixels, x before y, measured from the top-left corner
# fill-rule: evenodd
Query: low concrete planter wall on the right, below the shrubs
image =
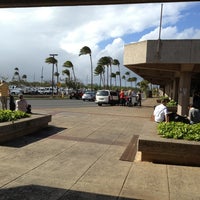
<path id="1" fill-rule="evenodd" d="M 200 142 L 173 139 L 139 139 L 142 161 L 200 166 Z"/>

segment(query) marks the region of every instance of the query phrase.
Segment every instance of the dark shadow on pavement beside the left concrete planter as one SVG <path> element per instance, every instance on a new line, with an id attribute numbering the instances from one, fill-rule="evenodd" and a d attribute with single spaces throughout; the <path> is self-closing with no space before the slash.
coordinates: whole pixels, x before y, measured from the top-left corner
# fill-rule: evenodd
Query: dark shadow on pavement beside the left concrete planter
<path id="1" fill-rule="evenodd" d="M 42 140 L 44 138 L 50 137 L 52 135 L 58 134 L 59 132 L 65 129 L 66 128 L 49 125 L 41 129 L 40 131 L 5 142 L 1 144 L 1 146 L 20 148 L 20 147 L 29 145 L 31 143 L 37 142 L 39 140 Z"/>

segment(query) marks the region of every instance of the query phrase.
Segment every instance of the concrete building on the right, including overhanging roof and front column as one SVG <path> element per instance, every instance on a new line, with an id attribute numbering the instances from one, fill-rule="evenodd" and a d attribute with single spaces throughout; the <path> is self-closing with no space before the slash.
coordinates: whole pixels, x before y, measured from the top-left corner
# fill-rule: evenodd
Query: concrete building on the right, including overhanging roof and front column
<path id="1" fill-rule="evenodd" d="M 178 102 L 178 114 L 188 113 L 194 91 L 200 89 L 200 40 L 147 40 L 124 48 L 124 66 Z"/>

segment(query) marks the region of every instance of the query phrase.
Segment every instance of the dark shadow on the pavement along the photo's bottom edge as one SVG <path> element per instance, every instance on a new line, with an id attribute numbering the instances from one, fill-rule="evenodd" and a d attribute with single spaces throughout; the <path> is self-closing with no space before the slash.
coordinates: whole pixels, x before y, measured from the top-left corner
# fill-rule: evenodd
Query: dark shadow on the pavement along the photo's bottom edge
<path id="1" fill-rule="evenodd" d="M 0 189 L 0 200 L 136 200 L 40 185 Z"/>

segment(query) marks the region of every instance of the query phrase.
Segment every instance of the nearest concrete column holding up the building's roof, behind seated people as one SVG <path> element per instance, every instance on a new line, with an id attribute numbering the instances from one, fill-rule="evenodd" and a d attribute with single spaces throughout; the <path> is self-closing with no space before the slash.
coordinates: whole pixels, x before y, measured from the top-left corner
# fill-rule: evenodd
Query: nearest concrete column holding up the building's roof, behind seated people
<path id="1" fill-rule="evenodd" d="M 178 111 L 179 115 L 188 115 L 188 104 L 190 98 L 191 72 L 180 72 L 179 93 L 178 93 Z"/>

